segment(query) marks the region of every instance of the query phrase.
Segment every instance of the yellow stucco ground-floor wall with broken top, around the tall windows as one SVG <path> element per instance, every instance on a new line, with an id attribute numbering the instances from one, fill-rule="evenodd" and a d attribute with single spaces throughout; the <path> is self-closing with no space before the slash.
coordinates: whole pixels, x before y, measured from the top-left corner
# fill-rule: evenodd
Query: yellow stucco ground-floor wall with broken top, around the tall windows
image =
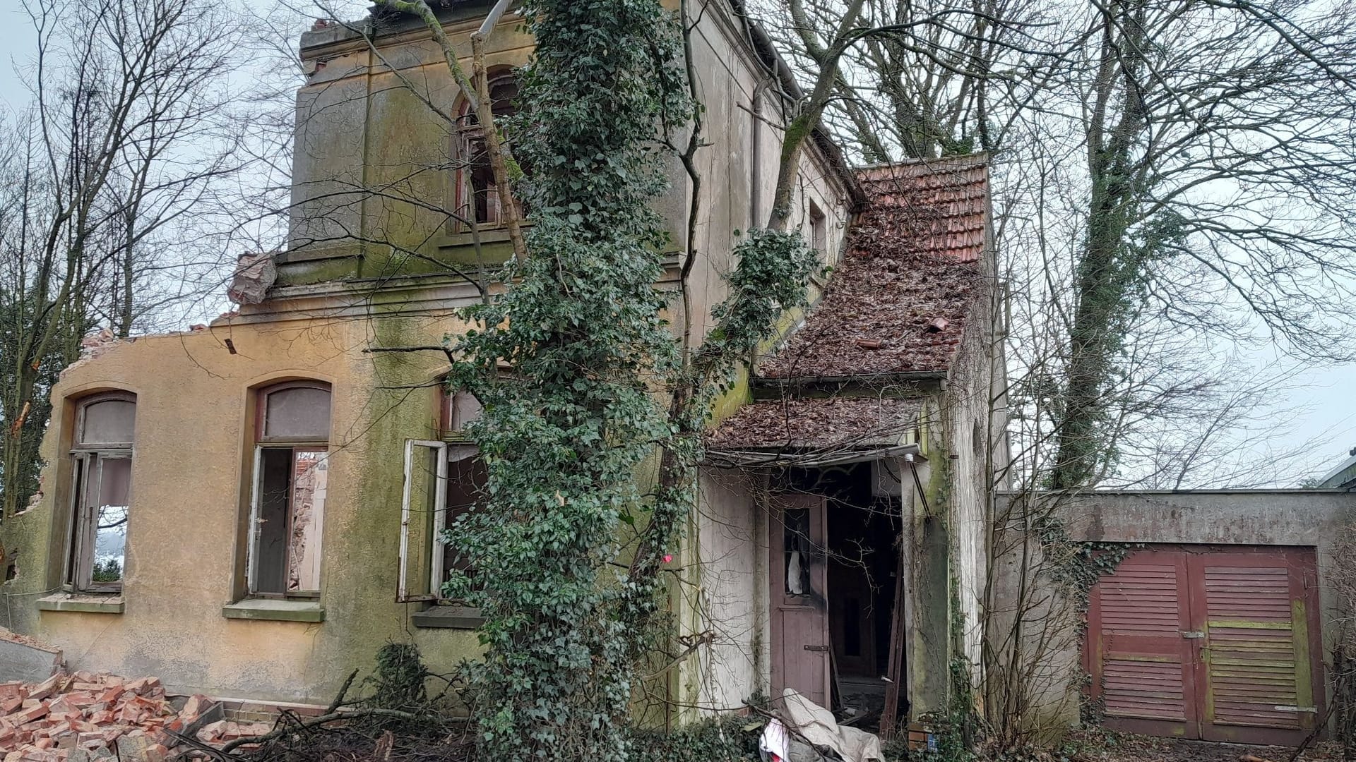
<path id="1" fill-rule="evenodd" d="M 251 323 L 121 342 L 68 370 L 53 393 L 43 442 L 49 465 L 35 507 L 0 527 L 18 549 L 19 576 L 0 591 L 0 617 L 58 645 L 72 668 L 160 675 L 171 690 L 328 702 L 348 671 L 388 640 L 412 639 L 450 670 L 477 652 L 473 633 L 411 625 L 396 598 L 401 445 L 430 438 L 441 355 L 367 355 L 437 342 L 439 317 Z M 236 353 L 228 350 L 231 339 Z M 252 468 L 251 389 L 290 378 L 332 385 L 328 500 L 320 559 L 324 621 L 226 618 L 243 595 L 244 525 Z M 122 613 L 41 610 L 61 583 L 71 515 L 68 454 L 75 401 L 122 389 L 137 395 Z"/>

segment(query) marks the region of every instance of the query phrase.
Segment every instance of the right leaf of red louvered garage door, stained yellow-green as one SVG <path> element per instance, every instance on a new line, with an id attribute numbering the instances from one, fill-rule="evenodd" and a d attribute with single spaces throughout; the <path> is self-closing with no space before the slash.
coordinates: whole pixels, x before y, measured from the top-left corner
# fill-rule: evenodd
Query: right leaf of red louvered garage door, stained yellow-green
<path id="1" fill-rule="evenodd" d="M 1201 738 L 1299 743 L 1317 721 L 1314 686 L 1322 685 L 1314 679 L 1313 552 L 1193 553 L 1188 563 L 1193 617 L 1205 632 L 1196 681 Z"/>

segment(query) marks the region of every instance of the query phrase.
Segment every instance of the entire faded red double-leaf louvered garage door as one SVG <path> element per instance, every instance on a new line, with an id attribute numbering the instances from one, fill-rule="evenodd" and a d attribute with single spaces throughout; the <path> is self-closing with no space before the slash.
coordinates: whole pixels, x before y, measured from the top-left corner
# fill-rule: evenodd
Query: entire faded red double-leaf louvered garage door
<path id="1" fill-rule="evenodd" d="M 1115 729 L 1294 744 L 1322 702 L 1311 548 L 1149 546 L 1092 591 L 1090 694 Z"/>

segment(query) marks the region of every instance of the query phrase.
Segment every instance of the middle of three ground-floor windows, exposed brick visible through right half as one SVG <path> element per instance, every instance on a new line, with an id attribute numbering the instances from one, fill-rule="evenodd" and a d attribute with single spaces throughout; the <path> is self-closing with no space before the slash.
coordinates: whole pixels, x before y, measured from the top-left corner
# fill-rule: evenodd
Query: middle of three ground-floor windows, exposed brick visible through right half
<path id="1" fill-rule="evenodd" d="M 256 411 L 248 593 L 313 597 L 330 475 L 330 386 L 268 386 L 258 392 Z"/>

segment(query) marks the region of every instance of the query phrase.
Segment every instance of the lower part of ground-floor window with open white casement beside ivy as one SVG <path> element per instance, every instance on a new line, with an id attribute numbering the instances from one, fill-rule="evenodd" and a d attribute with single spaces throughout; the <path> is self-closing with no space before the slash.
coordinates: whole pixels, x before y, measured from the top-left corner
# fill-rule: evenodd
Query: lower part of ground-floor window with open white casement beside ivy
<path id="1" fill-rule="evenodd" d="M 453 568 L 465 571 L 442 530 L 469 511 L 485 488 L 485 465 L 476 447 L 449 442 L 405 442 L 400 510 L 399 601 L 439 601 Z"/>

